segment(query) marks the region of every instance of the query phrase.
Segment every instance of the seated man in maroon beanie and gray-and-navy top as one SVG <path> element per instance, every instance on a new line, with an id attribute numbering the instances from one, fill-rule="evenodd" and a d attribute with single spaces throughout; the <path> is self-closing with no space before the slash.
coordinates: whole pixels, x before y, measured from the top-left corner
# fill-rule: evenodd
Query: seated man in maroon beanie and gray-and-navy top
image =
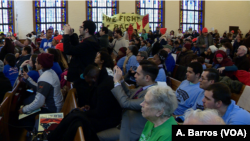
<path id="1" fill-rule="evenodd" d="M 60 89 L 60 81 L 56 73 L 51 69 L 53 66 L 54 56 L 48 53 L 41 53 L 37 57 L 36 69 L 39 70 L 40 77 L 35 83 L 26 72 L 23 72 L 25 82 L 36 91 L 36 94 L 31 95 L 33 98 L 19 110 L 20 114 L 32 112 L 41 108 L 40 113 L 56 113 L 60 112 L 63 105 L 63 96 Z M 31 131 L 35 124 L 37 114 L 30 115 L 21 120 L 24 126 Z"/>

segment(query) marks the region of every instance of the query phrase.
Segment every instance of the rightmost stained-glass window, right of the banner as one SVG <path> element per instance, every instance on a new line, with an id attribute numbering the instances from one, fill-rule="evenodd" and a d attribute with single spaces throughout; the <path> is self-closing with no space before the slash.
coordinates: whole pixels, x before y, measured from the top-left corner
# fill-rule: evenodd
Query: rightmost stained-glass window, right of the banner
<path id="1" fill-rule="evenodd" d="M 180 29 L 183 32 L 192 28 L 197 32 L 204 26 L 204 0 L 181 0 Z"/>

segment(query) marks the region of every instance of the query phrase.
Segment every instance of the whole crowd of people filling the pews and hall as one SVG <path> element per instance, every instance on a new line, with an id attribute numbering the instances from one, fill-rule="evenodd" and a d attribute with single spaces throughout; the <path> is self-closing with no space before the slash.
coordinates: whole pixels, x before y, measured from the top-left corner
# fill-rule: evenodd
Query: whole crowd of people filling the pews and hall
<path id="1" fill-rule="evenodd" d="M 119 28 L 101 27 L 84 21 L 74 33 L 64 26 L 64 35 L 52 28 L 46 34 L 29 33 L 24 43 L 5 38 L 0 50 L 0 102 L 7 91 L 23 81 L 33 90 L 19 113 L 60 112 L 61 89 L 67 81 L 77 91 L 78 109 L 65 115 L 49 140 L 73 140 L 83 127 L 91 141 L 171 140 L 172 125 L 249 125 L 250 113 L 231 99 L 231 89 L 220 82 L 228 77 L 239 83 L 236 71 L 250 71 L 250 32 L 208 32 L 203 28 L 168 33 L 134 29 L 129 35 Z M 173 54 L 176 54 L 174 58 Z M 158 82 L 172 77 L 175 65 L 186 67 L 186 79 L 176 91 Z M 207 68 L 210 64 L 212 67 Z M 20 79 L 21 78 L 21 79 Z M 134 85 L 135 89 L 128 86 Z M 33 132 L 37 114 L 20 120 Z"/>

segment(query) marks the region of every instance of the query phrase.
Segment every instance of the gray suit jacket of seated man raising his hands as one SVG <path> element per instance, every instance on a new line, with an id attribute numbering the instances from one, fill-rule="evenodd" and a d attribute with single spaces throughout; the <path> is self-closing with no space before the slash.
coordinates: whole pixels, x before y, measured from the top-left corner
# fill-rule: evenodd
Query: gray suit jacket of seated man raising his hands
<path id="1" fill-rule="evenodd" d="M 139 140 L 147 122 L 147 119 L 142 117 L 140 105 L 144 101 L 147 89 L 138 94 L 138 99 L 132 99 L 140 88 L 141 87 L 130 90 L 125 82 L 122 82 L 120 86 L 116 86 L 111 90 L 121 107 L 124 109 L 119 141 Z"/>

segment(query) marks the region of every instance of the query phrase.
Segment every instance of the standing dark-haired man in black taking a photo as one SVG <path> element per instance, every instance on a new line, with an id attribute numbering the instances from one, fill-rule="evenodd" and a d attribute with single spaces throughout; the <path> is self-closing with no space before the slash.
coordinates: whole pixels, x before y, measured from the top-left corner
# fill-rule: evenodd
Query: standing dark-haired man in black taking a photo
<path id="1" fill-rule="evenodd" d="M 66 25 L 63 35 L 63 49 L 67 55 L 72 58 L 69 64 L 67 80 L 74 82 L 74 87 L 77 81 L 80 80 L 80 74 L 91 63 L 94 62 L 96 53 L 100 50 L 97 39 L 95 38 L 96 25 L 93 21 L 86 20 L 80 26 L 80 34 L 83 36 L 83 41 L 79 43 L 77 34 L 73 34 L 70 25 Z"/>

